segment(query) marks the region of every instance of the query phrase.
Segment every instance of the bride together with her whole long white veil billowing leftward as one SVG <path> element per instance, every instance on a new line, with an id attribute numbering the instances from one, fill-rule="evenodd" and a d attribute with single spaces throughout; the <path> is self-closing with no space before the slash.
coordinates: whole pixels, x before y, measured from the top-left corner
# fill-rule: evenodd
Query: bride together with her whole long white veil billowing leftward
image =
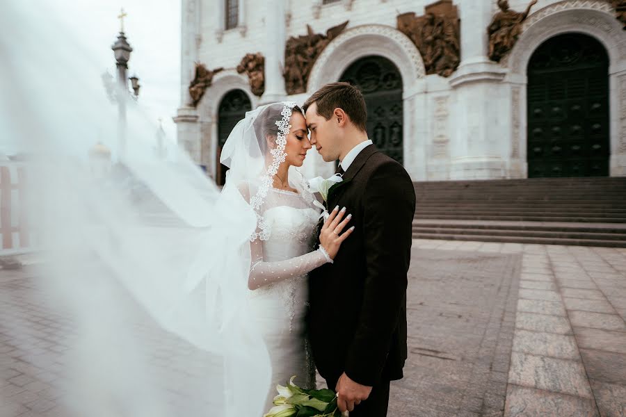
<path id="1" fill-rule="evenodd" d="M 47 383 L 71 399 L 64 415 L 260 416 L 276 384 L 297 375 L 312 387 L 305 277 L 351 229 L 335 209 L 316 247 L 321 204 L 295 169 L 311 147 L 300 109 L 248 112 L 223 148 L 219 190 L 185 152 L 154 154 L 154 124 L 134 101 L 121 123 L 125 91 L 111 101 L 102 67 L 71 53 L 89 49 L 73 48 L 81 37 L 47 3 L 0 15 L 13 34 L 0 38 L 0 137 L 29 152 L 24 213 L 45 259 L 31 289 L 51 295 L 42 314 L 63 318 L 51 330 L 63 353 L 36 360 L 63 363 L 63 382 Z M 113 161 L 87 157 L 98 140 Z"/>

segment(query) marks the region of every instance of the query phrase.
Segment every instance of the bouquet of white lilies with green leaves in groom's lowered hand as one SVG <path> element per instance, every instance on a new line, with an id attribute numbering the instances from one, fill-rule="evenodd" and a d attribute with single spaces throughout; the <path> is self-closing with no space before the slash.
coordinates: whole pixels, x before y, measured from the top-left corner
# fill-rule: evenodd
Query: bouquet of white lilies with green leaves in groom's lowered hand
<path id="1" fill-rule="evenodd" d="M 339 417 L 337 395 L 330 389 L 302 389 L 289 379 L 287 386 L 277 385 L 274 406 L 263 417 Z"/>

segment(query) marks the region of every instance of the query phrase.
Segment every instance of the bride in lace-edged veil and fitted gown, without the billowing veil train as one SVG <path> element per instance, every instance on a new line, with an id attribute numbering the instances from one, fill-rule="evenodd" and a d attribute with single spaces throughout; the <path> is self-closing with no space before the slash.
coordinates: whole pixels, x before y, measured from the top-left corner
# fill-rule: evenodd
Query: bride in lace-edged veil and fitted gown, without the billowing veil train
<path id="1" fill-rule="evenodd" d="M 231 168 L 225 187 L 235 183 L 257 215 L 248 297 L 271 358 L 266 409 L 272 405 L 276 384 L 286 384 L 293 375 L 297 385 L 315 386 L 304 329 L 307 272 L 332 263 L 352 231 L 344 231 L 351 215 L 344 218 L 344 210 L 335 208 L 314 250 L 320 209 L 303 176 L 292 170 L 297 177 L 289 178 L 290 167 L 303 165 L 312 147 L 307 132 L 305 117 L 294 103 L 268 104 L 248 113 L 234 128 L 221 156 Z M 255 166 L 263 166 L 263 171 L 257 172 Z"/>

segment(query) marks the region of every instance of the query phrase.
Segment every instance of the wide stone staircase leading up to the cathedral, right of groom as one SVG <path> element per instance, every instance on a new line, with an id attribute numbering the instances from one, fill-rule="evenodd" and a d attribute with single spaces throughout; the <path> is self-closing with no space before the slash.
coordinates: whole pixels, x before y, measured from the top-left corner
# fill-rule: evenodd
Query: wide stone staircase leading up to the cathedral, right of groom
<path id="1" fill-rule="evenodd" d="M 626 247 L 626 177 L 415 183 L 413 237 Z"/>

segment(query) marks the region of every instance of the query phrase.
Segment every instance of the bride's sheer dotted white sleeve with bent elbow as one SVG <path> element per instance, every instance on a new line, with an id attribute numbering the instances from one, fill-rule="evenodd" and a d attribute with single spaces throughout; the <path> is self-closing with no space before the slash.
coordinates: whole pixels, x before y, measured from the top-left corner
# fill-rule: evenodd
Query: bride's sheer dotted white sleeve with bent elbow
<path id="1" fill-rule="evenodd" d="M 296 258 L 275 262 L 263 261 L 262 242 L 259 239 L 250 243 L 250 251 L 252 252 L 252 265 L 248 278 L 250 290 L 256 290 L 284 279 L 300 277 L 325 263 L 332 263 L 332 259 L 321 246 L 318 250 L 296 256 Z"/>

